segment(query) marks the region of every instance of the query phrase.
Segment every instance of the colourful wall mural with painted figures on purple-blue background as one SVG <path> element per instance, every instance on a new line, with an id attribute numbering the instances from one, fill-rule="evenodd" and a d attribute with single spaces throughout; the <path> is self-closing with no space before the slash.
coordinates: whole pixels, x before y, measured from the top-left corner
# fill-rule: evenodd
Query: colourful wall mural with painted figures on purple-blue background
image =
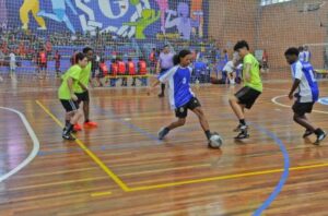
<path id="1" fill-rule="evenodd" d="M 202 37 L 206 0 L 0 0 L 1 25 L 71 34 L 109 32 L 144 39 L 176 34 Z"/>

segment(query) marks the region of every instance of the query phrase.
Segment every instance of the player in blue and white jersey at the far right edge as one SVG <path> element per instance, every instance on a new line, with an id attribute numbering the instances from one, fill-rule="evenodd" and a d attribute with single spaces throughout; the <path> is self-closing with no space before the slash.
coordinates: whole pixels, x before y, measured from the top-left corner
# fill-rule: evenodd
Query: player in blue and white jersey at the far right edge
<path id="1" fill-rule="evenodd" d="M 305 113 L 311 113 L 314 104 L 318 100 L 319 88 L 314 77 L 314 69 L 311 63 L 298 60 L 300 51 L 297 48 L 289 48 L 284 56 L 289 64 L 291 64 L 292 76 L 294 80 L 289 98 L 296 97 L 293 105 L 294 121 L 306 129 L 303 137 L 307 137 L 315 133 L 317 140 L 315 144 L 319 144 L 325 137 L 326 132 L 320 128 L 316 128 L 308 121 Z M 297 89 L 297 91 L 296 91 Z M 296 94 L 294 95 L 294 92 Z"/>

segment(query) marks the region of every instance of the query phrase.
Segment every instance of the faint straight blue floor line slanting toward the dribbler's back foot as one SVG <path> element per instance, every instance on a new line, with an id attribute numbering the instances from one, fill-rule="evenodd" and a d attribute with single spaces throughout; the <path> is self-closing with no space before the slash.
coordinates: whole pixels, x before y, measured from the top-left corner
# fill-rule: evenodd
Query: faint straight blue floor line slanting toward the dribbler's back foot
<path id="1" fill-rule="evenodd" d="M 104 109 L 104 108 L 102 108 L 102 107 L 99 107 L 99 106 L 97 106 L 97 105 L 94 105 L 94 107 L 95 107 L 98 111 L 101 111 L 103 115 L 108 116 L 108 117 L 110 118 L 110 120 L 113 120 L 113 121 L 115 121 L 115 122 L 118 122 L 118 123 L 120 123 L 120 124 L 124 124 L 125 127 L 127 127 L 127 128 L 129 128 L 129 129 L 132 129 L 132 130 L 137 131 L 138 133 L 140 133 L 140 134 L 147 136 L 147 137 L 150 139 L 150 140 L 156 141 L 157 144 L 162 144 L 162 143 L 163 143 L 163 142 L 161 142 L 161 141 L 159 140 L 159 137 L 157 137 L 156 135 L 153 135 L 153 134 L 149 133 L 148 131 L 145 131 L 145 130 L 143 130 L 143 129 L 141 129 L 141 128 L 139 128 L 139 127 L 137 127 L 137 125 L 130 123 L 130 122 L 127 122 L 127 121 L 121 120 L 120 118 L 117 118 L 116 115 L 115 115 L 112 110 L 106 110 L 106 109 Z"/>

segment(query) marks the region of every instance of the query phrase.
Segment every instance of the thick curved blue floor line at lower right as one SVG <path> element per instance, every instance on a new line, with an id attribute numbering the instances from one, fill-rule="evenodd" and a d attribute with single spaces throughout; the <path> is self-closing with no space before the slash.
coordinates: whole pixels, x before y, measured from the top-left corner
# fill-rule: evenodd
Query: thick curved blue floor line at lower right
<path id="1" fill-rule="evenodd" d="M 274 190 L 270 194 L 270 196 L 253 214 L 254 216 L 259 216 L 262 214 L 262 212 L 265 209 L 267 209 L 271 205 L 271 203 L 274 201 L 274 199 L 282 191 L 282 188 L 283 188 L 284 183 L 286 182 L 286 180 L 289 178 L 289 173 L 290 173 L 290 157 L 289 157 L 289 153 L 288 153 L 284 144 L 274 133 L 268 131 L 267 129 L 265 129 L 258 124 L 255 124 L 255 123 L 249 123 L 249 124 L 251 124 L 257 130 L 259 130 L 260 132 L 267 134 L 269 137 L 274 140 L 274 142 L 277 143 L 277 145 L 279 146 L 279 148 L 281 149 L 281 152 L 283 154 L 283 161 L 284 161 L 283 172 L 281 175 L 279 183 L 277 184 L 277 187 L 274 188 Z"/>

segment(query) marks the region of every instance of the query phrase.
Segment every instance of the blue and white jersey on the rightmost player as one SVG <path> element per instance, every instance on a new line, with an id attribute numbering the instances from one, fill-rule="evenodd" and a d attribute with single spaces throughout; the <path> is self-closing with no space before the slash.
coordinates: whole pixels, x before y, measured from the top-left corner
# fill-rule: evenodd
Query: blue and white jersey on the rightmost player
<path id="1" fill-rule="evenodd" d="M 296 61 L 292 64 L 293 79 L 301 81 L 296 94 L 300 103 L 315 103 L 319 97 L 319 88 L 314 77 L 314 69 L 311 63 Z"/>

